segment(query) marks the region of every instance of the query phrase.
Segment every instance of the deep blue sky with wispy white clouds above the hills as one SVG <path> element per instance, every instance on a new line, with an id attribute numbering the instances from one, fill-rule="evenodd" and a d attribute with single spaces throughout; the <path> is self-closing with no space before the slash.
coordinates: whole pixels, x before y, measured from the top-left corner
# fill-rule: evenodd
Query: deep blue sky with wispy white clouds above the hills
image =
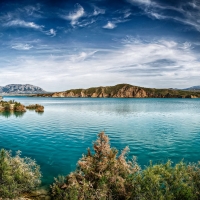
<path id="1" fill-rule="evenodd" d="M 0 86 L 200 85 L 199 0 L 0 2 Z"/>

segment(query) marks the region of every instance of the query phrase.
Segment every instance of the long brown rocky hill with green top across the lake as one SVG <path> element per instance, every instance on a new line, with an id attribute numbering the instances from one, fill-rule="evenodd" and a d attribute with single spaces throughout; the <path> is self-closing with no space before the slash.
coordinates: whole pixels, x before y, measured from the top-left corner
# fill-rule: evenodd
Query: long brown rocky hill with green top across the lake
<path id="1" fill-rule="evenodd" d="M 174 89 L 155 89 L 119 84 L 88 89 L 71 89 L 51 94 L 38 94 L 41 97 L 111 97 L 111 98 L 200 98 L 200 92 Z"/>

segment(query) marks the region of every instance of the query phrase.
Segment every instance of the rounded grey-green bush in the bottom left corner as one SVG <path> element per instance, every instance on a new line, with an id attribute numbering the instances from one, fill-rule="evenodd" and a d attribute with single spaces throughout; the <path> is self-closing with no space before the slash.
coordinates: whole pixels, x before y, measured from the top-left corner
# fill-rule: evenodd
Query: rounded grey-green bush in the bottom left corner
<path id="1" fill-rule="evenodd" d="M 0 197 L 15 198 L 31 192 L 40 185 L 39 166 L 30 158 L 21 158 L 20 152 L 14 157 L 11 152 L 0 151 Z"/>

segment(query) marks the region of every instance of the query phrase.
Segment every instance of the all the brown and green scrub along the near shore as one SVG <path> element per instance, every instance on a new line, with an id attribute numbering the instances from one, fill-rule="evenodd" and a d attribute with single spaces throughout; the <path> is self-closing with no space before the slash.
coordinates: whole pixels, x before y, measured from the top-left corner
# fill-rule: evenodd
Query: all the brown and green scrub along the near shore
<path id="1" fill-rule="evenodd" d="M 144 169 L 129 149 L 111 148 L 104 132 L 98 134 L 93 150 L 67 176 L 58 176 L 50 186 L 55 200 L 199 200 L 200 162 L 152 164 Z M 0 197 L 16 198 L 33 192 L 40 184 L 39 166 L 30 158 L 0 152 Z"/>

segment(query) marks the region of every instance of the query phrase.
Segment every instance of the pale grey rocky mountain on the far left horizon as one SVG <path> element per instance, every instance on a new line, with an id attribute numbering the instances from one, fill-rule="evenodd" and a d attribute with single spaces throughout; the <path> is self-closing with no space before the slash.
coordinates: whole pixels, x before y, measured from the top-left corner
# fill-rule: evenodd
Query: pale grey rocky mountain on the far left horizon
<path id="1" fill-rule="evenodd" d="M 46 93 L 45 90 L 43 90 L 40 87 L 30 85 L 30 84 L 10 84 L 6 86 L 0 86 L 0 94 L 6 95 L 6 94 L 41 94 Z"/>

